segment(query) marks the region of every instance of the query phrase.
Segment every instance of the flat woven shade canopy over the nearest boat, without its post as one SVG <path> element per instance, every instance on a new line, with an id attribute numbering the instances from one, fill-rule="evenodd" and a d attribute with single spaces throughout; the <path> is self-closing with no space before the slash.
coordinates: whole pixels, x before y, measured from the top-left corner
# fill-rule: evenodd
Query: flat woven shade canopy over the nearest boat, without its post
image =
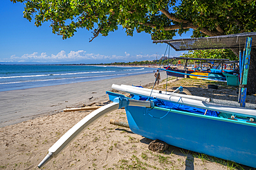
<path id="1" fill-rule="evenodd" d="M 210 36 L 196 39 L 158 40 L 153 41 L 153 43 L 167 43 L 176 51 L 242 48 L 244 47 L 246 37 L 248 36 L 253 37 L 252 47 L 256 47 L 256 32 Z"/>

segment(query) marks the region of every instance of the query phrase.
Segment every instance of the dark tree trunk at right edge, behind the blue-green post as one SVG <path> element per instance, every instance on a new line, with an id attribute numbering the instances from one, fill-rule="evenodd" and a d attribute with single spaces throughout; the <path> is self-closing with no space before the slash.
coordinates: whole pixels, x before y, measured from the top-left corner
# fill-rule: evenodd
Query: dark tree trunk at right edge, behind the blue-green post
<path id="1" fill-rule="evenodd" d="M 243 50 L 244 48 L 241 49 L 241 52 L 243 52 Z M 232 49 L 232 52 L 239 57 L 239 49 Z M 256 48 L 252 48 L 250 50 L 250 66 L 248 72 L 247 89 L 252 94 L 256 94 Z"/>

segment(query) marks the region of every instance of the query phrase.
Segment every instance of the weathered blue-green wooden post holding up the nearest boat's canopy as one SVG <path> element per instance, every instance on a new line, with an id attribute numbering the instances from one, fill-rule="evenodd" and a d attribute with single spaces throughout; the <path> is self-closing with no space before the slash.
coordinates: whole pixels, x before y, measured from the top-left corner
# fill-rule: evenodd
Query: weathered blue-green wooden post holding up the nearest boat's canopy
<path id="1" fill-rule="evenodd" d="M 239 85 L 240 90 L 240 106 L 246 107 L 246 92 L 247 92 L 247 80 L 248 80 L 248 71 L 250 65 L 250 49 L 252 46 L 252 37 L 246 38 L 246 51 L 244 55 L 244 64 L 241 65 L 243 67 L 243 75 L 242 80 Z"/>

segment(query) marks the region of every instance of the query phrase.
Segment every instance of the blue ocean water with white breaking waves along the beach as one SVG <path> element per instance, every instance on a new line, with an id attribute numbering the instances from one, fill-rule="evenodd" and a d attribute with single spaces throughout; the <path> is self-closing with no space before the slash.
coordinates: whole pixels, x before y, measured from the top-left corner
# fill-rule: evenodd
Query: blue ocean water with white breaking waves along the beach
<path id="1" fill-rule="evenodd" d="M 89 65 L 0 65 L 0 92 L 99 81 L 122 76 L 147 74 L 156 68 Z"/>

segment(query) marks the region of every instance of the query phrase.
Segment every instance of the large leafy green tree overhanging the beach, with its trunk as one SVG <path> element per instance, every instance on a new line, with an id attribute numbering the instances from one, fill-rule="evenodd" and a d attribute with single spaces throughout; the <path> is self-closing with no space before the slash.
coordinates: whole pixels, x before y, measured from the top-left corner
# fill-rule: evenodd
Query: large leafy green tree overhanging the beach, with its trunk
<path id="1" fill-rule="evenodd" d="M 122 25 L 128 35 L 147 32 L 152 39 L 172 39 L 193 29 L 193 37 L 256 31 L 256 0 L 10 0 L 25 4 L 24 17 L 35 25 L 51 22 L 53 33 L 70 38 L 78 28 L 95 37 Z M 238 49 L 233 49 L 238 54 Z M 249 78 L 256 77 L 256 50 L 252 49 Z M 256 92 L 255 81 L 248 89 Z"/>

